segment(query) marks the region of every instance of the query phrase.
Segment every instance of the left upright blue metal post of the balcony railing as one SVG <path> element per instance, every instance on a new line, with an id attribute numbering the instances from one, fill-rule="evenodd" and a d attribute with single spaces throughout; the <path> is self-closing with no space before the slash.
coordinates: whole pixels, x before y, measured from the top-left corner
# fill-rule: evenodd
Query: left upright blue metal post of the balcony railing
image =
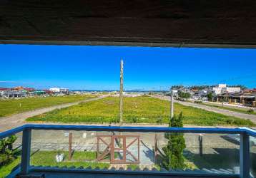
<path id="1" fill-rule="evenodd" d="M 22 134 L 21 174 L 29 174 L 30 149 L 31 130 L 25 129 Z"/>

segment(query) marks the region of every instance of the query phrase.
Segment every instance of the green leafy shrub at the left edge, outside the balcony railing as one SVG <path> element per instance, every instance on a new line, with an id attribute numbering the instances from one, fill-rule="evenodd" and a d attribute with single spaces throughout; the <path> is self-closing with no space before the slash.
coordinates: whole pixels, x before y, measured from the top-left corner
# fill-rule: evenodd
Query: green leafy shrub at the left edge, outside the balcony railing
<path id="1" fill-rule="evenodd" d="M 16 139 L 17 137 L 12 135 L 6 139 L 0 140 L 0 167 L 16 158 L 18 151 L 13 148 Z"/>

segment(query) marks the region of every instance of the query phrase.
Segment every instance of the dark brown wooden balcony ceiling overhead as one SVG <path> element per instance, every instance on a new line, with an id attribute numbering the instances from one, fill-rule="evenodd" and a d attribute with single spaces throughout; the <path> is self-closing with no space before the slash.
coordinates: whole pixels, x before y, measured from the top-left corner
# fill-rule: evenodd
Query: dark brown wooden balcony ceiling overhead
<path id="1" fill-rule="evenodd" d="M 256 46 L 255 0 L 1 0 L 0 43 Z"/>

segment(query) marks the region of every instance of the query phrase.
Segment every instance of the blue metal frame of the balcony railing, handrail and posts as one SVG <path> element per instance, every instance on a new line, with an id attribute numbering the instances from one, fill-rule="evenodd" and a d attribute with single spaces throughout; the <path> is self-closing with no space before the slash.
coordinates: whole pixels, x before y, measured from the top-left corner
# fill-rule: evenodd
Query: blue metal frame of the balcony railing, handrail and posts
<path id="1" fill-rule="evenodd" d="M 75 131 L 115 131 L 115 132 L 181 132 L 209 134 L 240 134 L 240 177 L 250 177 L 250 136 L 256 131 L 242 128 L 202 128 L 202 127 L 114 127 L 89 125 L 23 125 L 0 133 L 0 140 L 23 132 L 21 153 L 21 174 L 29 174 L 31 130 L 75 130 Z M 191 173 L 193 175 L 193 173 Z"/>

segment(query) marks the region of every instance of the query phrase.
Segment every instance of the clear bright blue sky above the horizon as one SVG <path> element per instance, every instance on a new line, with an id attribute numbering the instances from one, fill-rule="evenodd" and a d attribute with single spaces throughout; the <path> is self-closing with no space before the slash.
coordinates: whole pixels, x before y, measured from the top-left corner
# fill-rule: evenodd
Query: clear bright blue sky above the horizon
<path id="1" fill-rule="evenodd" d="M 171 85 L 242 84 L 256 88 L 256 50 L 114 46 L 0 45 L 0 87 L 126 90 Z"/>

